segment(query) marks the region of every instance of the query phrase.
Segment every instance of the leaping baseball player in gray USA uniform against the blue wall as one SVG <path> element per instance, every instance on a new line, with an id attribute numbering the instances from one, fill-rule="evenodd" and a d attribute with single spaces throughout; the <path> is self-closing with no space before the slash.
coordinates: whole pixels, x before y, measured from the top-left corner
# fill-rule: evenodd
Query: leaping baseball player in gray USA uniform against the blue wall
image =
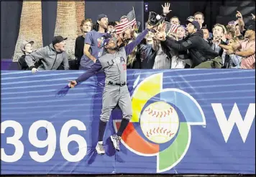
<path id="1" fill-rule="evenodd" d="M 89 77 L 96 75 L 101 69 L 104 70 L 106 79 L 105 87 L 102 96 L 102 110 L 99 121 L 99 138 L 96 145 L 97 153 L 104 154 L 103 137 L 106 129 L 106 123 L 109 121 L 111 110 L 119 104 L 122 110 L 123 118 L 120 128 L 116 135 L 111 135 L 111 141 L 116 150 L 120 150 L 119 143 L 122 133 L 127 127 L 129 120 L 132 118 L 132 101 L 127 87 L 127 56 L 132 52 L 137 44 L 140 44 L 146 36 L 149 29 L 147 27 L 134 42 L 127 44 L 126 47 L 118 47 L 118 40 L 115 37 L 105 39 L 104 49 L 106 54 L 103 54 L 91 66 L 91 69 L 78 77 L 76 80 L 71 80 L 68 84 L 73 88 L 79 83 L 88 80 Z"/>

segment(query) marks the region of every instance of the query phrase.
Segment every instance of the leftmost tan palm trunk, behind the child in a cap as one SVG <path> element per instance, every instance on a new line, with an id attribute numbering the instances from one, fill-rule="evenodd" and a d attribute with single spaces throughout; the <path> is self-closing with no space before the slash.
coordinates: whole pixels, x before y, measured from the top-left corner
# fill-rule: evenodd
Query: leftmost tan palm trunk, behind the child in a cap
<path id="1" fill-rule="evenodd" d="M 24 40 L 33 40 L 34 49 L 42 47 L 42 6 L 41 1 L 23 1 L 20 18 L 19 37 L 12 60 L 16 62 L 22 56 L 20 45 Z"/>

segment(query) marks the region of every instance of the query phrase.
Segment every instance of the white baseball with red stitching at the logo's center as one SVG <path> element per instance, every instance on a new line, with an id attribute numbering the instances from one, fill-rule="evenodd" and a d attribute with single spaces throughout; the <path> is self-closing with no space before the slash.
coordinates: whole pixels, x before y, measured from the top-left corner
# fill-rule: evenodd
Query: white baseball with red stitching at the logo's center
<path id="1" fill-rule="evenodd" d="M 143 111 L 140 126 L 143 134 L 152 142 L 166 143 L 178 132 L 178 114 L 168 103 L 154 102 Z"/>

